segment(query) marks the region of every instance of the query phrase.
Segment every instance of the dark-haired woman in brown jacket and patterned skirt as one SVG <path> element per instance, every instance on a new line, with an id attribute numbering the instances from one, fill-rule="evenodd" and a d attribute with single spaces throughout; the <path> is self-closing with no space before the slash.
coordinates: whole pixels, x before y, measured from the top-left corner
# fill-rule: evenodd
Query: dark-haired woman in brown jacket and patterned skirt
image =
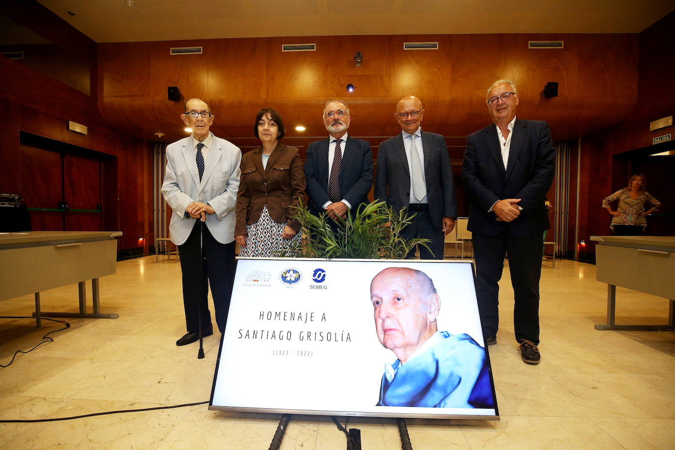
<path id="1" fill-rule="evenodd" d="M 277 111 L 261 109 L 253 130 L 263 145 L 242 156 L 234 235 L 240 256 L 273 257 L 302 239 L 291 206 L 307 203 L 304 173 L 298 149 L 279 143 L 284 121 Z"/>

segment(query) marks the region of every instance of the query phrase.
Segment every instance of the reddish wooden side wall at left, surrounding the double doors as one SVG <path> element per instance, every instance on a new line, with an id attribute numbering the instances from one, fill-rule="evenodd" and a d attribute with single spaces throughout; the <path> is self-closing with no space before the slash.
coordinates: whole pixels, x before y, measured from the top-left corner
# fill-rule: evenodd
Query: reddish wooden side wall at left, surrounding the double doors
<path id="1" fill-rule="evenodd" d="M 69 120 L 86 125 L 88 135 L 68 131 Z M 0 192 L 21 191 L 20 132 L 97 154 L 103 161 L 102 227 L 124 233 L 119 238 L 119 250 L 136 249 L 147 254 L 148 246 L 154 244 L 152 163 L 147 163 L 148 159 L 152 161 L 152 152 L 148 142 L 111 128 L 91 96 L 5 57 L 0 57 L 0 121 Z M 144 239 L 139 242 L 139 237 Z"/>

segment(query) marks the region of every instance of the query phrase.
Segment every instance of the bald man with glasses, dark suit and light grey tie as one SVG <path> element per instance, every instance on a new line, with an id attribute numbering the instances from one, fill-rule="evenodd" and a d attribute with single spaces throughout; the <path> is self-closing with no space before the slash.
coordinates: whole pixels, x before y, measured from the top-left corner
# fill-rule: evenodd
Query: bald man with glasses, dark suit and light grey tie
<path id="1" fill-rule="evenodd" d="M 448 146 L 440 134 L 423 132 L 420 128 L 425 111 L 420 99 L 404 97 L 396 111 L 394 117 L 403 131 L 379 145 L 375 198 L 386 200 L 396 210 L 406 208 L 406 213 L 416 213 L 412 223 L 404 228 L 403 237 L 431 240 L 427 245 L 433 255 L 419 246 L 420 257 L 443 259 L 444 237 L 454 229 L 457 217 Z M 414 250 L 408 258 L 413 253 Z"/>

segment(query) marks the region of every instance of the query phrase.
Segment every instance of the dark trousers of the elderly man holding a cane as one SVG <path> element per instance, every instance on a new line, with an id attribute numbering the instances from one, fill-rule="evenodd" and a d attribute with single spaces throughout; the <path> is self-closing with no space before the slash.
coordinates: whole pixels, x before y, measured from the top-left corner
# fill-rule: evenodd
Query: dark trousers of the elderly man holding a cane
<path id="1" fill-rule="evenodd" d="M 209 283 L 215 308 L 215 321 L 222 333 L 225 331 L 229 299 L 232 297 L 234 283 L 234 241 L 221 244 L 204 227 L 204 273 L 200 277 L 199 270 L 199 225 L 195 221 L 185 244 L 178 246 L 180 252 L 180 270 L 183 275 L 183 306 L 185 308 L 185 325 L 188 333 L 199 329 L 199 302 L 202 302 L 202 330 L 211 327 L 209 311 Z M 203 287 L 203 290 L 200 289 Z M 200 292 L 203 292 L 200 298 Z"/>

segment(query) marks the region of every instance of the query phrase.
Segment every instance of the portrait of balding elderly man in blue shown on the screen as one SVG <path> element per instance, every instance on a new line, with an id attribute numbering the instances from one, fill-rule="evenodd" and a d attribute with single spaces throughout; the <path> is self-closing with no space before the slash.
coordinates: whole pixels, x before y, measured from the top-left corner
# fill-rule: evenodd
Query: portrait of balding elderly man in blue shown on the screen
<path id="1" fill-rule="evenodd" d="M 494 407 L 485 349 L 467 334 L 438 331 L 433 281 L 415 269 L 389 267 L 371 281 L 375 329 L 394 351 L 385 364 L 378 406 Z"/>

